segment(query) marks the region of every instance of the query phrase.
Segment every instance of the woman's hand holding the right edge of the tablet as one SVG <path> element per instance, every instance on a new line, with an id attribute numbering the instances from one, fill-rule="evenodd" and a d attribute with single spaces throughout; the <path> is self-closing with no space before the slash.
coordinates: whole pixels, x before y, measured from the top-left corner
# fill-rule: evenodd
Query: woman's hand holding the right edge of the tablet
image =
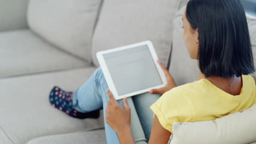
<path id="1" fill-rule="evenodd" d="M 158 64 L 162 68 L 162 70 L 165 73 L 167 84 L 165 87 L 158 88 L 158 89 L 151 89 L 149 93 L 156 93 L 156 94 L 164 94 L 167 91 L 170 91 L 173 87 L 177 87 L 172 75 L 169 73 L 169 71 L 165 68 L 165 66 L 158 60 Z"/>

